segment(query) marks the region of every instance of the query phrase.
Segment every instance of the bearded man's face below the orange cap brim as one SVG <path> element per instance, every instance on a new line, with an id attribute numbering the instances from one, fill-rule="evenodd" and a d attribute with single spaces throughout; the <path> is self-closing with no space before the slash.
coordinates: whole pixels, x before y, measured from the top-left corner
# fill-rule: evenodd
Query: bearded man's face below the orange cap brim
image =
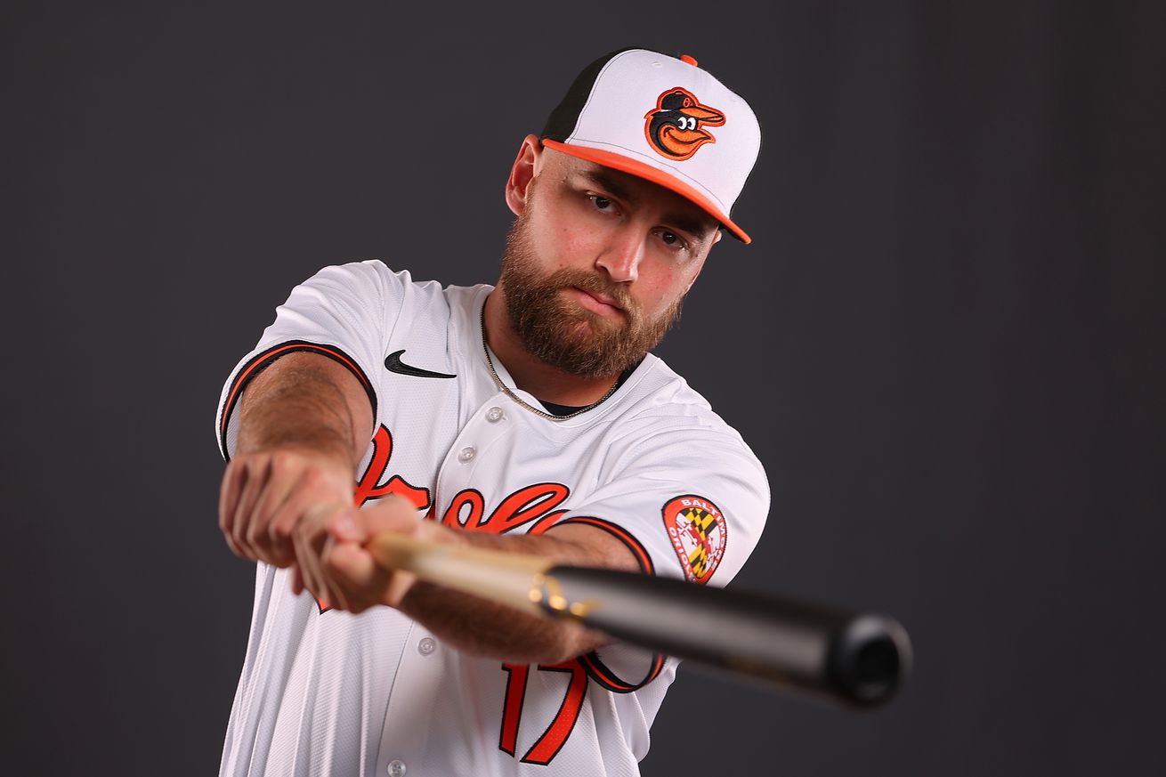
<path id="1" fill-rule="evenodd" d="M 662 187 L 566 154 L 543 150 L 536 168 L 503 257 L 511 324 L 552 366 L 618 374 L 680 316 L 717 224 Z"/>

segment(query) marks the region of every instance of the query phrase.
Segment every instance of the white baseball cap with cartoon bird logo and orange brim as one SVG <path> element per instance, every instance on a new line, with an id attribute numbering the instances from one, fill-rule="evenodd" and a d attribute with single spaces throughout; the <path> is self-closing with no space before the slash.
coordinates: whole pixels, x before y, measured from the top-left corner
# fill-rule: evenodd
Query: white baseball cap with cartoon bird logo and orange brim
<path id="1" fill-rule="evenodd" d="M 607 54 L 550 113 L 542 144 L 658 183 L 700 205 L 744 243 L 729 212 L 761 148 L 757 117 L 688 55 Z"/>

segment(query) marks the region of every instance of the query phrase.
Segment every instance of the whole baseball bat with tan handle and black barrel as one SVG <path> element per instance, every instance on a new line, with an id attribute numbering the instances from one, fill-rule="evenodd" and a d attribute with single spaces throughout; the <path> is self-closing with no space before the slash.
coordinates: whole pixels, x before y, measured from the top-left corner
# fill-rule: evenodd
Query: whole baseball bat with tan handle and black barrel
<path id="1" fill-rule="evenodd" d="M 911 665 L 907 632 L 881 615 L 400 534 L 368 548 L 431 583 L 856 707 L 888 701 Z"/>

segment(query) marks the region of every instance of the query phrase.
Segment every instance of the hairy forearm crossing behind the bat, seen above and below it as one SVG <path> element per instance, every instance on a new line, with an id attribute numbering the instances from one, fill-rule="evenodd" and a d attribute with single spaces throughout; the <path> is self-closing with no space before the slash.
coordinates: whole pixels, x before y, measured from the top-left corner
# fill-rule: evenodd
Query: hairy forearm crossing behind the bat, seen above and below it
<path id="1" fill-rule="evenodd" d="M 433 526 L 438 541 L 541 555 L 556 564 L 634 568 L 624 548 L 542 536 L 494 536 Z M 593 539 L 593 538 L 592 538 Z M 557 664 L 603 644 L 604 635 L 552 621 L 470 594 L 415 582 L 398 608 L 440 639 L 465 653 L 520 663 Z"/>

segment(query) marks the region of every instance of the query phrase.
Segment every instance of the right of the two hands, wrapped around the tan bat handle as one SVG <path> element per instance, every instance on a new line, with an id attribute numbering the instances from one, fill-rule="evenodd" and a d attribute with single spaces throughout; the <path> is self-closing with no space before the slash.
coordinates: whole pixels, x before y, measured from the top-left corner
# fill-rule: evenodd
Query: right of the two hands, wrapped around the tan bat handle
<path id="1" fill-rule="evenodd" d="M 406 499 L 386 497 L 332 522 L 318 560 L 307 547 L 297 556 L 302 560 L 297 572 L 303 580 L 293 586 L 303 584 L 335 609 L 349 612 L 363 612 L 377 604 L 399 606 L 416 578 L 408 572 L 386 569 L 373 560 L 364 545 L 381 532 L 438 539 L 448 530 L 419 518 L 416 508 Z"/>

